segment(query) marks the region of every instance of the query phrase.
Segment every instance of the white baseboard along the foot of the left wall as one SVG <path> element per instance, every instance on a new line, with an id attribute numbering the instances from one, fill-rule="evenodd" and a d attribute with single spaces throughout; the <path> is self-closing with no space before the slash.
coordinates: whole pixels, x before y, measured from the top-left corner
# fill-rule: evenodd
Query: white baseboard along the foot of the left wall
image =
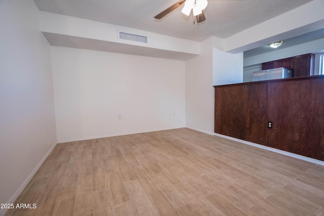
<path id="1" fill-rule="evenodd" d="M 57 143 L 54 143 L 54 145 L 44 155 L 44 157 L 42 158 L 42 160 L 39 161 L 39 163 L 36 165 L 36 167 L 29 174 L 29 176 L 27 177 L 27 179 L 22 183 L 22 185 L 18 188 L 18 190 L 16 191 L 16 193 L 8 200 L 7 203 L 14 203 L 16 201 L 16 199 L 18 198 L 18 196 L 25 189 L 25 187 L 27 186 L 27 184 L 30 182 L 30 180 L 32 179 L 32 177 L 35 175 L 36 171 L 39 169 L 39 167 L 41 167 L 41 165 L 44 163 L 44 161 L 50 155 L 50 153 L 53 151 L 53 149 L 55 148 L 56 145 L 57 145 Z M 7 210 L 8 209 L 6 209 L 6 208 L 0 209 L 0 216 L 4 216 L 5 213 L 7 212 Z"/>

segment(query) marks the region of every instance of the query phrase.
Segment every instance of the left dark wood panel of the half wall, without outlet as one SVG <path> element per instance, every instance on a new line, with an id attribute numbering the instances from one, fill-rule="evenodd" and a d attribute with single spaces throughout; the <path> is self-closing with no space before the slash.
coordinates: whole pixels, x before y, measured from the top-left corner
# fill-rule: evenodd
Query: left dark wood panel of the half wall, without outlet
<path id="1" fill-rule="evenodd" d="M 265 145 L 268 82 L 215 87 L 215 133 Z"/>

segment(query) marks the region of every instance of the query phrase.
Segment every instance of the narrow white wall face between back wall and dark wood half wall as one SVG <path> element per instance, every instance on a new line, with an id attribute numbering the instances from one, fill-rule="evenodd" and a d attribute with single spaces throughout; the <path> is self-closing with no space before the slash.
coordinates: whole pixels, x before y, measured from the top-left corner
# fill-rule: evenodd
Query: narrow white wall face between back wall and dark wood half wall
<path id="1" fill-rule="evenodd" d="M 201 55 L 186 61 L 186 127 L 214 132 L 213 38 L 201 42 Z"/>

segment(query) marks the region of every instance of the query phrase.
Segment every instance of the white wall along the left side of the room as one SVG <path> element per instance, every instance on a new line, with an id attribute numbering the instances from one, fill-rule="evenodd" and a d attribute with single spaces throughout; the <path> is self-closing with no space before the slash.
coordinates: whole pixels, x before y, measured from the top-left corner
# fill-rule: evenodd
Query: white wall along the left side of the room
<path id="1" fill-rule="evenodd" d="M 56 144 L 50 46 L 37 13 L 32 0 L 0 1 L 0 203 L 17 198 Z"/>

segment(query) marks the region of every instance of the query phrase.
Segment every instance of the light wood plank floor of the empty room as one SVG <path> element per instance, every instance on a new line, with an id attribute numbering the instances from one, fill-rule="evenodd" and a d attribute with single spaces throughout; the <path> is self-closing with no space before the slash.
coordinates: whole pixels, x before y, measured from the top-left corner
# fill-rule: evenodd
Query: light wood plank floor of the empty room
<path id="1" fill-rule="evenodd" d="M 324 215 L 324 166 L 188 128 L 58 144 L 6 215 Z"/>

